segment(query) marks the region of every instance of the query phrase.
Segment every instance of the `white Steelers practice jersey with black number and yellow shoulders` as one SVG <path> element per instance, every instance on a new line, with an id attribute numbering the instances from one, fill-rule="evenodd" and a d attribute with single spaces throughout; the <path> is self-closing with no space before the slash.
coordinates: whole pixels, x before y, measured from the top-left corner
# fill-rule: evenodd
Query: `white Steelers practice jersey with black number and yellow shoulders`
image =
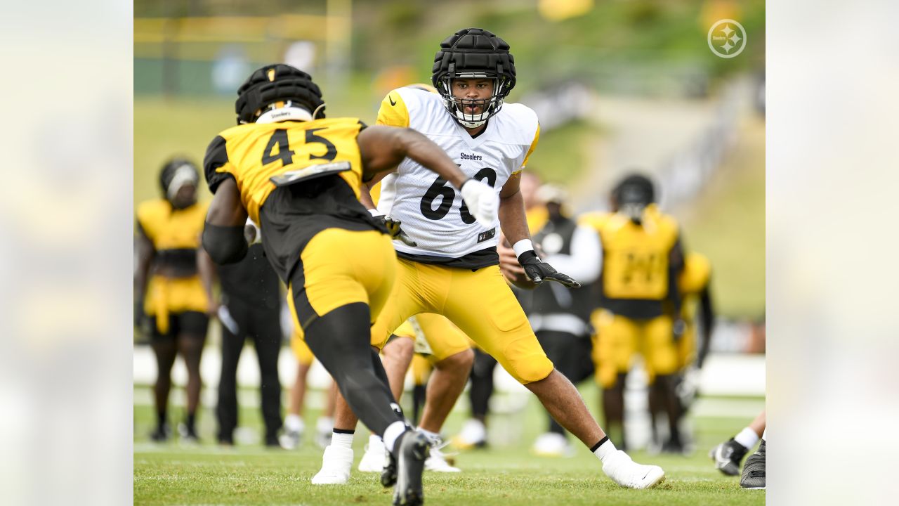
<path id="1" fill-rule="evenodd" d="M 537 145 L 537 114 L 521 104 L 504 104 L 474 139 L 449 115 L 440 95 L 414 88 L 390 92 L 378 111 L 378 124 L 408 126 L 443 148 L 468 177 L 491 185 L 499 194 L 512 174 L 521 171 Z M 460 192 L 430 169 L 405 158 L 396 173 L 381 183 L 378 211 L 402 221 L 417 246 L 399 240 L 399 253 L 462 258 L 496 246 L 499 221 L 479 224 Z"/>

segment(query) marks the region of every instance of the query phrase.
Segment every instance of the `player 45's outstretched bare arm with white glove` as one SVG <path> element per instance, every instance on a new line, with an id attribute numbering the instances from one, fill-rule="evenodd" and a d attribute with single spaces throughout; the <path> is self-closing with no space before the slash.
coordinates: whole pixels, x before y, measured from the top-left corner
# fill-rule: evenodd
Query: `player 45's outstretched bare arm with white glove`
<path id="1" fill-rule="evenodd" d="M 489 226 L 496 220 L 499 199 L 494 189 L 482 181 L 468 179 L 440 146 L 408 128 L 375 125 L 357 138 L 362 157 L 363 179 L 393 170 L 403 158 L 412 158 L 456 186 L 468 211 L 479 223 Z"/>

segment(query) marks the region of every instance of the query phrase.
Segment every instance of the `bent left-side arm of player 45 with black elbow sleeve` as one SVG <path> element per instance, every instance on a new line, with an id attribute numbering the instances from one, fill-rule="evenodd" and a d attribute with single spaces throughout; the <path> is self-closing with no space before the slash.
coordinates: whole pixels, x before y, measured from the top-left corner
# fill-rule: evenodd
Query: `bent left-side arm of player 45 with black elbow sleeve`
<path id="1" fill-rule="evenodd" d="M 203 249 L 217 264 L 233 264 L 246 256 L 246 210 L 232 178 L 218 185 L 203 228 Z"/>

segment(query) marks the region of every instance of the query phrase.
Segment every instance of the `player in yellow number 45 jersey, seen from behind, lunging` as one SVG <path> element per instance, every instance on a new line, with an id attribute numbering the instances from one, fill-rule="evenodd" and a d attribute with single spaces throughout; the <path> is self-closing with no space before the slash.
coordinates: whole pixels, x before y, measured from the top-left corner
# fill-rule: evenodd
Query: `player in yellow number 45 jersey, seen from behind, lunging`
<path id="1" fill-rule="evenodd" d="M 247 215 L 259 224 L 266 257 L 288 285 L 294 324 L 397 461 L 394 504 L 421 504 L 428 441 L 405 422 L 369 347 L 396 254 L 387 230 L 359 202 L 360 186 L 409 157 L 464 187 L 481 220 L 495 219 L 498 202 L 492 188 L 467 179 L 422 134 L 325 119 L 324 108 L 318 86 L 297 68 L 268 65 L 246 79 L 237 90 L 238 126 L 212 140 L 203 163 L 215 195 L 203 246 L 216 262 L 235 262 L 246 254 Z"/>

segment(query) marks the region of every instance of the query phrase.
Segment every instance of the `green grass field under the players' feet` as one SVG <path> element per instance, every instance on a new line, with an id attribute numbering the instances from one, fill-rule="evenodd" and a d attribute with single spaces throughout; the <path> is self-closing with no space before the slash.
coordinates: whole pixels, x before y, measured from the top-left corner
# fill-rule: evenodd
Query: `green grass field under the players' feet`
<path id="1" fill-rule="evenodd" d="M 596 388 L 582 389 L 589 406 L 596 404 Z M 761 400 L 746 400 L 749 410 Z M 462 402 L 465 404 L 465 402 Z M 315 427 L 316 411 L 307 412 L 307 428 Z M 259 411 L 244 406 L 243 423 L 259 428 Z M 464 412 L 453 411 L 446 425 L 449 434 L 460 427 Z M 321 464 L 321 450 L 307 434 L 296 451 L 266 449 L 261 445 L 218 447 L 211 443 L 214 433 L 212 413 L 204 411 L 200 431 L 204 442 L 185 447 L 178 443 L 156 445 L 147 442 L 151 428 L 151 408 L 135 408 L 134 503 L 163 504 L 389 504 L 391 493 L 378 483 L 376 474 L 354 470 L 350 483 L 313 486 L 309 479 Z M 633 452 L 635 460 L 662 465 L 666 480 L 650 491 L 619 488 L 601 471 L 595 456 L 580 445 L 569 458 L 532 456 L 529 447 L 543 429 L 540 407 L 532 399 L 515 416 L 496 416 L 492 430 L 520 432 L 519 443 L 488 450 L 462 452 L 456 456 L 461 474 L 425 474 L 426 504 L 633 504 L 694 505 L 763 504 L 765 492 L 744 491 L 739 479 L 719 474 L 706 452 L 718 442 L 743 428 L 741 417 L 695 420 L 698 449 L 692 456 L 647 456 Z M 512 423 L 520 424 L 512 426 Z M 358 464 L 368 431 L 360 429 L 355 438 Z"/>

